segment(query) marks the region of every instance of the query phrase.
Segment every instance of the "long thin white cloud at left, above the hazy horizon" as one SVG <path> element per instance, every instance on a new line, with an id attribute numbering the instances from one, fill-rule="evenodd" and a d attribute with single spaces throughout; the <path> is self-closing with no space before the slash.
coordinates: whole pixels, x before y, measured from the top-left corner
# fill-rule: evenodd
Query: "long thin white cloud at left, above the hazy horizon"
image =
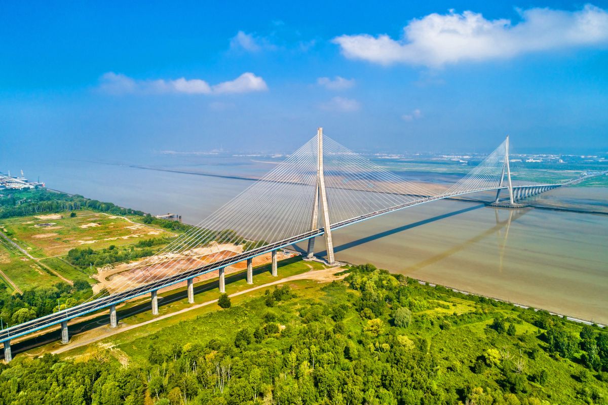
<path id="1" fill-rule="evenodd" d="M 230 94 L 268 90 L 263 78 L 246 72 L 235 80 L 210 86 L 201 79 L 135 80 L 122 73 L 108 72 L 100 79 L 99 88 L 109 94 Z"/>

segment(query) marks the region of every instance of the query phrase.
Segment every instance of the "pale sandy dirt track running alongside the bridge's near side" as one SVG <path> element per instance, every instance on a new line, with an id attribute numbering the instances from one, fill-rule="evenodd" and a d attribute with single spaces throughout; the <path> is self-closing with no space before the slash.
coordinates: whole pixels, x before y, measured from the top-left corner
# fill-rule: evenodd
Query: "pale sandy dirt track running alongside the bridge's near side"
<path id="1" fill-rule="evenodd" d="M 340 271 L 339 266 L 326 268 L 325 270 L 310 270 L 310 271 L 307 271 L 306 273 L 295 274 L 295 276 L 285 277 L 283 279 L 273 281 L 268 284 L 258 285 L 257 287 L 252 287 L 247 290 L 238 291 L 238 293 L 230 294 L 230 297 L 238 296 L 241 294 L 247 294 L 251 291 L 260 290 L 261 288 L 268 288 L 268 287 L 271 287 L 272 285 L 285 284 L 286 282 L 295 281 L 295 280 L 316 280 L 317 282 L 320 282 L 320 283 L 328 283 L 328 282 L 332 282 L 334 280 L 343 279 L 346 276 L 346 274 L 342 274 L 340 276 L 335 276 L 334 273 L 338 273 L 339 271 Z M 170 318 L 171 316 L 178 316 L 187 311 L 192 311 L 196 308 L 201 308 L 206 305 L 213 304 L 217 301 L 218 301 L 217 299 L 213 299 L 212 301 L 202 302 L 201 304 L 195 304 L 195 305 L 192 305 L 191 307 L 184 308 L 182 310 L 168 313 L 165 315 L 157 316 L 154 319 L 150 319 L 150 321 L 145 321 L 145 322 L 142 322 L 142 323 L 136 324 L 136 325 L 120 325 L 120 323 L 119 323 L 119 327 L 117 327 L 117 328 L 110 328 L 108 325 L 105 325 L 100 328 L 95 328 L 88 332 L 83 332 L 78 336 L 75 336 L 74 338 L 71 339 L 71 341 L 68 344 L 62 345 L 59 349 L 56 349 L 51 353 L 59 354 L 59 353 L 67 352 L 67 350 L 72 350 L 77 347 L 85 346 L 85 345 L 100 341 L 101 339 L 108 338 L 109 336 L 116 335 L 117 333 L 126 332 L 128 330 L 131 330 L 131 329 L 143 326 L 143 325 L 161 321 L 162 319 Z M 113 344 L 111 342 L 105 343 L 104 347 L 111 348 L 111 347 L 113 347 Z M 37 355 L 41 355 L 41 353 L 36 353 L 36 356 Z"/>

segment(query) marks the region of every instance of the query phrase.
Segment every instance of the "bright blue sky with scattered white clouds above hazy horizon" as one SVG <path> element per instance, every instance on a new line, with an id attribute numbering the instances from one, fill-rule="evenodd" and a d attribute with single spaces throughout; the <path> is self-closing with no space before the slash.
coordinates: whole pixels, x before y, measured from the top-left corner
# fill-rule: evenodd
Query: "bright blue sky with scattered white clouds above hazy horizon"
<path id="1" fill-rule="evenodd" d="M 2 2 L 0 159 L 608 149 L 606 1 L 205 3 Z"/>

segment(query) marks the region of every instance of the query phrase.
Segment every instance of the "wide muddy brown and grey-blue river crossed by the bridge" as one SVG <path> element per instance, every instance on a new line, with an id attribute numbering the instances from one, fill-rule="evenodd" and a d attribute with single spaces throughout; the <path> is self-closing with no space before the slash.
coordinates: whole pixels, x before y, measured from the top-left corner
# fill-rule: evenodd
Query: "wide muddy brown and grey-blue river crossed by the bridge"
<path id="1" fill-rule="evenodd" d="M 268 158 L 198 157 L 181 172 L 64 160 L 23 163 L 47 186 L 198 223 L 272 168 Z M 202 162 L 202 163 L 200 163 Z M 188 172 L 226 175 L 215 177 Z M 33 179 L 33 178 L 32 178 Z M 533 205 L 608 213 L 608 188 L 556 189 Z M 334 233 L 336 259 L 608 324 L 608 215 L 442 200 Z M 322 241 L 317 242 L 322 250 Z"/>

